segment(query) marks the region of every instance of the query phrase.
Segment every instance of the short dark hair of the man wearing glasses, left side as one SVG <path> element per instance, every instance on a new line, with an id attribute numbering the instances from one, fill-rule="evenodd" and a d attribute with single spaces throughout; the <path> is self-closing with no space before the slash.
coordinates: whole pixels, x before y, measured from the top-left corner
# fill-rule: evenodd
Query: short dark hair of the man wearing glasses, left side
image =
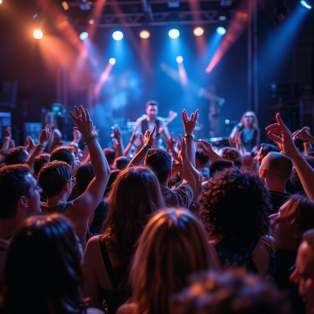
<path id="1" fill-rule="evenodd" d="M 41 167 L 38 184 L 48 197 L 61 193 L 63 186 L 72 178 L 72 168 L 64 161 L 54 160 Z"/>

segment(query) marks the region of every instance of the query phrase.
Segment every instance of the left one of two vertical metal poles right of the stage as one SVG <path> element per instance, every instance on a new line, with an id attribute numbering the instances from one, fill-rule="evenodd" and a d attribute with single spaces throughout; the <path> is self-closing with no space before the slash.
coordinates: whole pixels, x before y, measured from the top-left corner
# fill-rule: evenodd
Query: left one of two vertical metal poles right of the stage
<path id="1" fill-rule="evenodd" d="M 253 104 L 253 75 L 252 75 L 252 1 L 248 1 L 248 28 L 247 28 L 247 109 L 252 110 Z"/>

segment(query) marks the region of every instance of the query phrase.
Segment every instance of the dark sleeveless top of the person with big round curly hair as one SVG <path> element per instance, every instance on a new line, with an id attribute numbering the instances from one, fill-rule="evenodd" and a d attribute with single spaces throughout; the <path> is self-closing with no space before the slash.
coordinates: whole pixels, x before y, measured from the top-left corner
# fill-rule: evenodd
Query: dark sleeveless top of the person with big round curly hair
<path id="1" fill-rule="evenodd" d="M 259 240 L 260 237 L 257 236 L 248 246 L 238 245 L 227 247 L 220 245 L 219 243 L 214 243 L 213 246 L 218 254 L 222 268 L 226 269 L 230 267 L 244 266 L 247 271 L 251 273 L 258 273 L 258 269 L 253 261 L 253 251 Z M 265 243 L 263 238 L 262 241 L 269 252 L 269 266 L 265 276 L 273 278 L 276 269 L 276 258 L 274 256 L 273 249 Z"/>

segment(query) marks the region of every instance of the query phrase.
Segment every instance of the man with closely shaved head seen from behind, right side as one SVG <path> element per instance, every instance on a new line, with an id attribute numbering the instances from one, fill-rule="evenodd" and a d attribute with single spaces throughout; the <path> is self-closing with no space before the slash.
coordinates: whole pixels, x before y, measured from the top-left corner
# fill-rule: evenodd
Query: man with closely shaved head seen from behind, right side
<path id="1" fill-rule="evenodd" d="M 265 182 L 270 192 L 272 214 L 277 213 L 279 207 L 290 196 L 286 192 L 286 185 L 292 174 L 292 166 L 291 159 L 284 154 L 270 152 L 263 158 L 258 169 L 259 177 Z"/>

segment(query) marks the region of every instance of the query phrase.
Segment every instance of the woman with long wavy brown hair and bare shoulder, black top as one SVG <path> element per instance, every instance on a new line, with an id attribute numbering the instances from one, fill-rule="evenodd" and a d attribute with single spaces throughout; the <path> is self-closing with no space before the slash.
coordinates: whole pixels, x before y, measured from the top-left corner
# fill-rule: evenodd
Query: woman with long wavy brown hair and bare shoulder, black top
<path id="1" fill-rule="evenodd" d="M 130 291 L 130 263 L 150 216 L 164 207 L 159 182 L 147 167 L 122 170 L 108 197 L 102 235 L 92 237 L 84 256 L 84 288 L 98 308 L 102 300 L 108 314 L 115 313 Z"/>

